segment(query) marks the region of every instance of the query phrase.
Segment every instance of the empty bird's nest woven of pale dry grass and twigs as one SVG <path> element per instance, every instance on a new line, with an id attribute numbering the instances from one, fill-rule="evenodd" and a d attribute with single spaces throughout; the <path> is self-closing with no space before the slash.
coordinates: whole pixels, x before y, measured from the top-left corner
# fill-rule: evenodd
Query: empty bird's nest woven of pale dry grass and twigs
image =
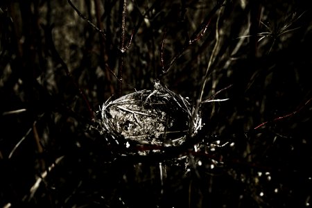
<path id="1" fill-rule="evenodd" d="M 107 101 L 101 108 L 103 130 L 139 144 L 182 144 L 190 132 L 192 116 L 189 101 L 163 87 L 158 80 L 153 90 L 144 89 Z M 192 128 L 198 128 L 198 119 L 193 122 Z"/>

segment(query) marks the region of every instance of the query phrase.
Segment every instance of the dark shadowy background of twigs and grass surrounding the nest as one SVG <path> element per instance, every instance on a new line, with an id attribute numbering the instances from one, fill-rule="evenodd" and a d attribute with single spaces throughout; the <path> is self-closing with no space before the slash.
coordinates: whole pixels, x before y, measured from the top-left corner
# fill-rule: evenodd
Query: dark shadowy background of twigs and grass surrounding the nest
<path id="1" fill-rule="evenodd" d="M 0 207 L 311 206 L 309 1 L 72 3 L 0 1 Z M 100 105 L 155 78 L 229 98 L 199 150 L 132 157 L 98 132 Z"/>

